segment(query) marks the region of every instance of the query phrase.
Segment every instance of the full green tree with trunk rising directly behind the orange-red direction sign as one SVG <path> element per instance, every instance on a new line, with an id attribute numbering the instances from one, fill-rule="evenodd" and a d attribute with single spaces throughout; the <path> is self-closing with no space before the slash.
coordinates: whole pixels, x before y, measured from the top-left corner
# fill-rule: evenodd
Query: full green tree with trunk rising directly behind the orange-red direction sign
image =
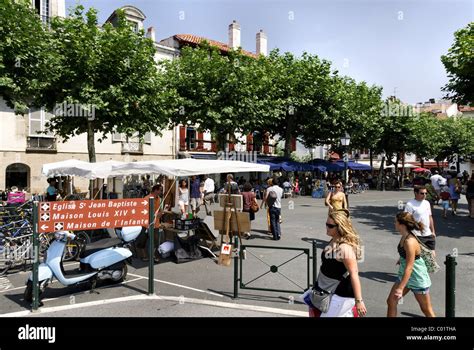
<path id="1" fill-rule="evenodd" d="M 54 112 L 49 129 L 65 140 L 87 133 L 95 162 L 94 134 L 160 132 L 174 110 L 173 91 L 162 88 L 153 42 L 135 33 L 123 12 L 115 26 L 98 26 L 97 12 L 77 6 L 66 19 L 54 18 L 51 35 L 60 55 L 59 74 L 36 100 Z M 81 106 L 83 109 L 73 108 Z M 66 108 L 58 113 L 58 106 Z"/>

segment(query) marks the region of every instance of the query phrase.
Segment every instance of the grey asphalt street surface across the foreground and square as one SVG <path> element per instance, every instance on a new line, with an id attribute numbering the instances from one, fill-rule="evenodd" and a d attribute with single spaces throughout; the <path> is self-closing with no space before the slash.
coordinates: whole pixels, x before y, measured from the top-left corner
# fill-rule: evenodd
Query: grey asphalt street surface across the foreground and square
<path id="1" fill-rule="evenodd" d="M 394 215 L 398 201 L 411 199 L 411 191 L 375 192 L 351 195 L 353 222 L 361 235 L 365 259 L 360 263 L 363 298 L 368 317 L 384 317 L 385 299 L 396 278 L 398 233 L 394 230 Z M 296 198 L 284 200 L 282 239 L 271 240 L 264 233 L 266 222 L 260 210 L 253 224 L 252 237 L 246 245 L 295 247 L 311 249 L 316 240 L 318 255 L 328 240 L 325 234 L 327 208 L 321 199 Z M 438 234 L 437 257 L 441 271 L 432 277 L 430 290 L 434 311 L 444 316 L 445 255 L 457 252 L 456 316 L 474 316 L 474 281 L 468 276 L 474 270 L 474 220 L 467 215 L 466 200 L 460 201 L 459 216 L 441 217 L 435 207 L 434 218 Z M 299 256 L 298 256 L 299 255 Z M 286 262 L 286 263 L 285 263 Z M 285 264 L 283 264 L 285 263 Z M 268 272 L 269 265 L 280 265 L 278 273 Z M 318 257 L 319 265 L 319 257 Z M 300 287 L 307 283 L 306 256 L 299 251 L 247 248 L 243 263 L 243 282 L 257 288 L 284 289 L 292 292 L 239 290 L 233 296 L 233 266 L 217 265 L 211 258 L 185 264 L 162 261 L 155 265 L 156 296 L 147 291 L 147 267 L 135 261 L 129 267 L 127 280 L 121 285 L 107 285 L 89 293 L 85 287 L 65 288 L 55 282 L 44 294 L 40 316 L 215 316 L 215 317 L 281 317 L 306 316 L 307 309 L 299 300 Z M 266 274 L 265 274 L 266 273 Z M 256 277 L 264 275 L 261 278 Z M 0 314 L 30 316 L 23 300 L 27 272 L 13 271 L 0 278 Z M 255 279 L 255 280 L 254 280 Z M 254 280 L 254 281 L 252 281 Z M 405 317 L 422 316 L 413 294 L 407 294 L 399 307 Z M 33 316 L 35 316 L 33 315 Z"/>

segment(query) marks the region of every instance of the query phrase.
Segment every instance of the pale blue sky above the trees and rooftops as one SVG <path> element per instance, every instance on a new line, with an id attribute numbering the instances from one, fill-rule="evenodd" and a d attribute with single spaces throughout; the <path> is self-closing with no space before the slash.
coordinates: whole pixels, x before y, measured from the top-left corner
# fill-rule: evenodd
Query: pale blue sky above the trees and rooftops
<path id="1" fill-rule="evenodd" d="M 157 40 L 195 34 L 227 43 L 235 19 L 246 50 L 255 52 L 263 29 L 269 50 L 316 54 L 341 74 L 382 86 L 384 96 L 396 89 L 408 103 L 443 96 L 440 56 L 453 33 L 474 21 L 473 0 L 66 0 L 66 8 L 77 3 L 98 9 L 101 22 L 136 6 Z"/>

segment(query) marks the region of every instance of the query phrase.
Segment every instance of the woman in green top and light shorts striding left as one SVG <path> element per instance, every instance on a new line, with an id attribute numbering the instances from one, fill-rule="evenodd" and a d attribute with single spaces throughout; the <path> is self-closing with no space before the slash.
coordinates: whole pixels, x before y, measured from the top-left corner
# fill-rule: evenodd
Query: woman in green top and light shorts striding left
<path id="1" fill-rule="evenodd" d="M 423 231 L 423 224 L 416 222 L 413 215 L 407 212 L 398 213 L 395 228 L 402 235 L 397 246 L 400 254 L 400 268 L 397 282 L 387 298 L 387 317 L 397 316 L 398 301 L 410 290 L 426 317 L 435 317 L 430 299 L 431 280 L 424 260 L 421 257 L 421 246 L 413 231 Z"/>

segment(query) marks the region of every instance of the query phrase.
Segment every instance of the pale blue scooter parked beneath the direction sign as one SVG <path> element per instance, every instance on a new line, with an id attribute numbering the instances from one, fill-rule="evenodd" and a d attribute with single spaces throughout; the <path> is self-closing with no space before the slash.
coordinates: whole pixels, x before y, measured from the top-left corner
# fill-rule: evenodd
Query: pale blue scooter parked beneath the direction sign
<path id="1" fill-rule="evenodd" d="M 138 237 L 141 230 L 141 226 L 124 227 L 122 230 L 115 230 L 117 238 L 87 244 L 80 253 L 79 269 L 67 272 L 63 268 L 64 249 L 67 241 L 74 240 L 75 235 L 67 231 L 56 232 L 55 240 L 45 254 L 44 263 L 39 265 L 39 294 L 44 292 L 53 278 L 65 286 L 91 283 L 92 289 L 98 280 L 122 282 L 127 276 L 126 262 L 132 256 L 129 244 Z M 27 302 L 33 300 L 33 273 L 28 276 L 23 296 Z"/>

